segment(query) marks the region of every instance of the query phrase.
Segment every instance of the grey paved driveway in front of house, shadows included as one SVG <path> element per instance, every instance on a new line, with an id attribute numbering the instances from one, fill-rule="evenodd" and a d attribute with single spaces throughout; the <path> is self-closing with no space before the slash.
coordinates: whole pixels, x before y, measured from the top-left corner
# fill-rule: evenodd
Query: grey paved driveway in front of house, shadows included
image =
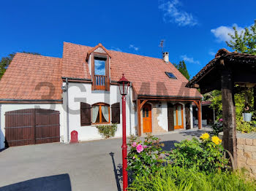
<path id="1" fill-rule="evenodd" d="M 202 131 L 159 136 L 165 149 Z M 2 190 L 121 190 L 121 139 L 37 144 L 0 152 Z"/>

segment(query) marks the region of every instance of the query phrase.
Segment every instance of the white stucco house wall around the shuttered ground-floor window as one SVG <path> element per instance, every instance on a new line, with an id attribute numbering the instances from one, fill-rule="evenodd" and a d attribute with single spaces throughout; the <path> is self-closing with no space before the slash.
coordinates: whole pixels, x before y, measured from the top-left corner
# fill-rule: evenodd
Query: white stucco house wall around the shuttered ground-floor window
<path id="1" fill-rule="evenodd" d="M 120 103 L 121 106 L 121 95 L 117 85 L 110 85 L 110 92 L 103 90 L 91 91 L 91 84 L 86 83 L 73 83 L 69 82 L 69 135 L 72 130 L 78 131 L 79 141 L 88 141 L 95 139 L 102 139 L 102 136 L 98 133 L 96 125 L 81 126 L 80 125 L 80 102 L 85 102 L 87 104 L 93 105 L 99 102 L 105 104 L 115 104 Z M 132 92 L 132 91 L 131 91 Z M 134 106 L 131 102 L 131 95 L 127 95 L 127 136 L 130 134 L 135 134 L 135 111 Z M 64 93 L 64 103 L 67 100 L 66 94 Z M 131 104 L 131 105 L 130 105 Z M 131 111 L 130 111 L 131 109 Z M 120 113 L 121 113 L 120 109 Z M 111 111 L 110 111 L 111 119 Z M 122 136 L 122 115 L 120 115 L 120 124 L 116 130 L 115 137 Z M 65 139 L 67 141 L 67 139 Z"/>

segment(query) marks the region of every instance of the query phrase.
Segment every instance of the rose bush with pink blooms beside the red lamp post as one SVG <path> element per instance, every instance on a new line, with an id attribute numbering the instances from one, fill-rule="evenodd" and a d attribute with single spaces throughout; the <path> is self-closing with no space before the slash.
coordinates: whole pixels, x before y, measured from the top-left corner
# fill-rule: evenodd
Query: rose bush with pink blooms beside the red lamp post
<path id="1" fill-rule="evenodd" d="M 130 150 L 127 155 L 127 171 L 136 176 L 153 176 L 157 174 L 164 160 L 161 157 L 164 145 L 159 143 L 157 137 L 147 134 L 145 140 L 139 141 L 137 137 L 131 136 L 129 140 Z"/>

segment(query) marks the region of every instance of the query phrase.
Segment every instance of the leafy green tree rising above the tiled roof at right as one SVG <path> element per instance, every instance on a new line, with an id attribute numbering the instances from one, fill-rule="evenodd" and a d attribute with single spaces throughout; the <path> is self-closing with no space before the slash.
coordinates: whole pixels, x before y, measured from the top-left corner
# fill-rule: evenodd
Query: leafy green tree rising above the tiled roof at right
<path id="1" fill-rule="evenodd" d="M 256 55 L 256 20 L 249 28 L 244 28 L 241 34 L 238 33 L 236 26 L 233 26 L 234 34 L 228 34 L 231 37 L 227 46 L 241 53 Z"/>

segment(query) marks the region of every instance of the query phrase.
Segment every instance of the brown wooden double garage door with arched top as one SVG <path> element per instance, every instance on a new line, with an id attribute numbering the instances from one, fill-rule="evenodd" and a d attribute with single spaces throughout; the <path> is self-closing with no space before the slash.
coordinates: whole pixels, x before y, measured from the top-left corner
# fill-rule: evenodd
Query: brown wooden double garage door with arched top
<path id="1" fill-rule="evenodd" d="M 59 112 L 20 109 L 5 113 L 5 146 L 59 142 Z"/>

